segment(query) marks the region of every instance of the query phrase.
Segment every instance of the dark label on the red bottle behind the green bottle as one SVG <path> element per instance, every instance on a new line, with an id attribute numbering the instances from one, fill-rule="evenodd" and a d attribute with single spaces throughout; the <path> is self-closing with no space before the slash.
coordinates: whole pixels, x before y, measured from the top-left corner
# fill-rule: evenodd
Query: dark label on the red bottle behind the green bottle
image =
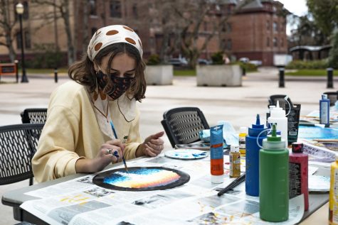
<path id="1" fill-rule="evenodd" d="M 300 163 L 289 163 L 289 198 L 302 194 Z"/>

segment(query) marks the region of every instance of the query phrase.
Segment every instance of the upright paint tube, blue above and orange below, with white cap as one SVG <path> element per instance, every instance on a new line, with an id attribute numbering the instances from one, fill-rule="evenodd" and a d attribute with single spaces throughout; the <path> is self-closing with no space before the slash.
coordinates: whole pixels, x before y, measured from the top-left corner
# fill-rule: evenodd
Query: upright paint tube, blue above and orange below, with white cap
<path id="1" fill-rule="evenodd" d="M 211 182 L 223 183 L 223 125 L 210 128 L 210 170 Z"/>

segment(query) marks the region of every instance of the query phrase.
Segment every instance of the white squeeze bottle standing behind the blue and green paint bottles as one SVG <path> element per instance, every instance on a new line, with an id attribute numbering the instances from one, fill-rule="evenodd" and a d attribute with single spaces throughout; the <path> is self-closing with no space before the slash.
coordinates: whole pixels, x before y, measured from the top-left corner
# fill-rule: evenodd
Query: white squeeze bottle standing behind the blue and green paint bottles
<path id="1" fill-rule="evenodd" d="M 287 148 L 287 117 L 285 116 L 285 110 L 280 107 L 280 102 L 277 101 L 275 108 L 270 111 L 270 117 L 268 118 L 268 124 L 276 124 L 280 136 L 285 140 L 285 148 Z"/>

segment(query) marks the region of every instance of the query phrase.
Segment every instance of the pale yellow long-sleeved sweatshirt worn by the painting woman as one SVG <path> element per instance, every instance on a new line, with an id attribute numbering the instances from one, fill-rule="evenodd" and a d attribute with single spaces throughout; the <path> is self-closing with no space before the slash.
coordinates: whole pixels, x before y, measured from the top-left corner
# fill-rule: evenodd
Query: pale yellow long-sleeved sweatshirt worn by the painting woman
<path id="1" fill-rule="evenodd" d="M 128 136 L 125 159 L 135 158 L 142 142 L 139 136 L 139 111 L 135 119 L 125 121 L 117 101 L 109 101 L 109 110 L 117 137 Z M 100 130 L 90 96 L 85 87 L 74 81 L 60 85 L 48 105 L 38 150 L 32 159 L 33 174 L 38 182 L 73 175 L 79 158 L 95 158 L 100 146 L 111 138 Z"/>

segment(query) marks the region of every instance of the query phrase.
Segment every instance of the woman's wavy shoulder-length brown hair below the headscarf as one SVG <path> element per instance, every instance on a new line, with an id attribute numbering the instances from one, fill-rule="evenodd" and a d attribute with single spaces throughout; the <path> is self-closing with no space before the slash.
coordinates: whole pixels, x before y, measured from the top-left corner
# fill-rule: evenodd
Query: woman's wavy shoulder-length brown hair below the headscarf
<path id="1" fill-rule="evenodd" d="M 142 61 L 141 56 L 139 55 L 139 51 L 137 50 L 137 48 L 128 43 L 114 43 L 100 50 L 100 52 L 97 53 L 97 55 L 95 56 L 95 62 L 100 65 L 102 57 L 105 57 L 110 53 L 111 55 L 107 65 L 107 71 L 110 71 L 109 67 L 114 57 L 120 53 L 126 53 L 135 60 L 135 79 L 132 80 L 132 84 L 130 84 L 130 88 L 127 90 L 127 95 L 134 97 L 137 101 L 141 101 L 141 99 L 144 99 L 144 93 L 147 87 L 144 78 L 145 65 Z M 83 84 L 85 87 L 88 87 L 90 92 L 95 92 L 97 77 L 94 69 L 94 62 L 90 61 L 88 55 L 85 55 L 83 60 L 75 62 L 69 67 L 68 76 L 70 77 L 70 79 L 75 80 L 75 82 L 78 82 L 79 84 Z M 108 84 L 110 84 L 110 82 L 112 81 L 110 78 L 108 80 Z"/>

